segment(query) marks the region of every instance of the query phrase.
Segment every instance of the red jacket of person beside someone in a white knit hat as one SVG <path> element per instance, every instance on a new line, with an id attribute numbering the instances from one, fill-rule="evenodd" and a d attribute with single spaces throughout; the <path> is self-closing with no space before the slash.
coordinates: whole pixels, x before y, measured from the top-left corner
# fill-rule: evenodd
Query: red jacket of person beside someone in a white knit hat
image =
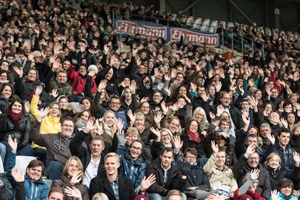
<path id="1" fill-rule="evenodd" d="M 70 85 L 72 86 L 72 88 L 74 89 L 74 94 L 80 94 L 80 93 L 84 93 L 84 87 L 85 87 L 85 83 L 86 83 L 86 77 L 80 76 L 80 74 L 75 71 L 74 66 L 70 66 L 67 70 L 68 72 L 68 78 L 70 80 Z M 97 90 L 97 85 L 96 82 L 94 80 L 94 78 L 92 79 L 92 89 L 91 92 L 94 94 Z"/>

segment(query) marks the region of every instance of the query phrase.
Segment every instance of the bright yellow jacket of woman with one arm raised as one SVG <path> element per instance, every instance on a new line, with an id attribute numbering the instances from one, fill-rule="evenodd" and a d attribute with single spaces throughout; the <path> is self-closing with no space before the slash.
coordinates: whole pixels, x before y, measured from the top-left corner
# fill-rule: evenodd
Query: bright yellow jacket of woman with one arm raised
<path id="1" fill-rule="evenodd" d="M 40 111 L 38 110 L 38 102 L 40 100 L 39 96 L 33 95 L 32 100 L 30 102 L 30 113 L 32 116 L 37 119 Z M 47 115 L 43 118 L 41 127 L 40 127 L 40 134 L 48 134 L 48 133 L 58 133 L 61 131 L 61 123 L 60 117 L 53 117 L 51 115 Z M 39 145 L 33 144 L 32 148 L 44 148 Z"/>

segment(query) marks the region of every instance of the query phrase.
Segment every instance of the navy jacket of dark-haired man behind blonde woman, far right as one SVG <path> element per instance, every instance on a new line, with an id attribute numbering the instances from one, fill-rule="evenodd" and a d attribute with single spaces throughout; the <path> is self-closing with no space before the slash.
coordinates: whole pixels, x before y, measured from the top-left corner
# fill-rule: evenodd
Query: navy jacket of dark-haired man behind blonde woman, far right
<path id="1" fill-rule="evenodd" d="M 267 147 L 267 150 L 265 152 L 265 160 L 270 155 L 272 152 L 277 153 L 280 156 L 281 159 L 281 169 L 286 171 L 286 172 L 292 172 L 295 166 L 294 158 L 293 158 L 293 153 L 295 150 L 292 148 L 290 144 L 288 144 L 285 147 L 285 150 L 278 144 L 276 143 L 275 145 L 270 144 Z M 285 161 L 285 152 L 287 159 Z"/>

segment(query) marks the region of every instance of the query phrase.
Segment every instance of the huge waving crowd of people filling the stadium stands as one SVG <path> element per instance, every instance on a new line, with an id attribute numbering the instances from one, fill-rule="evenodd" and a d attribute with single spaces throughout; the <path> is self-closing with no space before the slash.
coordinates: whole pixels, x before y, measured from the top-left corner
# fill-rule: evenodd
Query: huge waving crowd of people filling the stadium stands
<path id="1" fill-rule="evenodd" d="M 297 199 L 299 44 L 284 52 L 273 36 L 266 56 L 225 59 L 183 37 L 118 40 L 114 17 L 151 8 L 1 0 L 0 155 L 15 198 Z M 18 155 L 37 158 L 25 176 Z"/>

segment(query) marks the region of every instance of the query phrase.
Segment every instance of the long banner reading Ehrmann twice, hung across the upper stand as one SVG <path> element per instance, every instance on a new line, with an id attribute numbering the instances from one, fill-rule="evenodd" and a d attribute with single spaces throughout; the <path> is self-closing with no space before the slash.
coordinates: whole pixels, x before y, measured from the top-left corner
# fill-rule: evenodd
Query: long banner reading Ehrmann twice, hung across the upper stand
<path id="1" fill-rule="evenodd" d="M 149 23 L 144 21 L 124 21 L 115 20 L 114 28 L 117 34 L 135 35 L 139 33 L 142 38 L 150 36 L 152 39 L 162 37 L 165 41 L 180 40 L 183 36 L 187 42 L 195 45 L 204 45 L 207 47 L 220 47 L 220 36 L 218 33 L 201 32 L 194 29 L 184 29 L 171 26 L 163 26 L 161 24 Z"/>

